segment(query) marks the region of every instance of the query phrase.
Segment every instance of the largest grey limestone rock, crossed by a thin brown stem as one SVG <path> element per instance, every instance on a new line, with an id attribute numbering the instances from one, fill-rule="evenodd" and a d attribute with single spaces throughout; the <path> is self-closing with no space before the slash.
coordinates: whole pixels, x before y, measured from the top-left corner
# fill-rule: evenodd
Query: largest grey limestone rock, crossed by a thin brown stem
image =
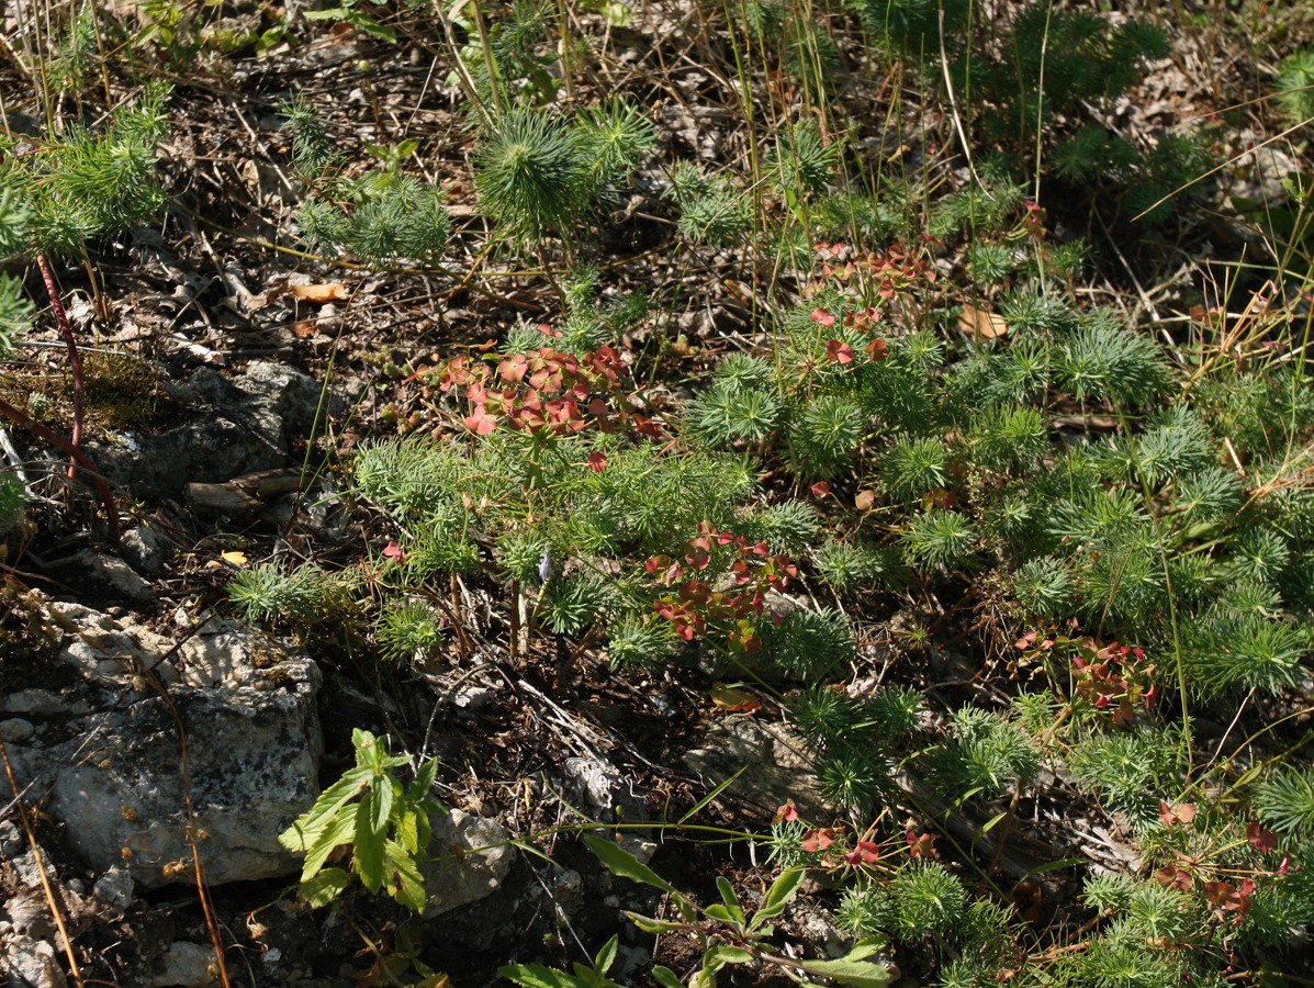
<path id="1" fill-rule="evenodd" d="M 212 620 L 175 644 L 84 607 L 51 610 L 76 628 L 59 660 L 81 674 L 75 695 L 62 698 L 80 713 L 42 720 L 25 711 L 35 736 L 11 754 L 24 782 L 49 788 L 46 811 L 85 863 L 126 868 L 146 888 L 193 880 L 176 711 L 208 880 L 294 872 L 298 859 L 277 836 L 319 791 L 314 662 L 233 623 Z"/>

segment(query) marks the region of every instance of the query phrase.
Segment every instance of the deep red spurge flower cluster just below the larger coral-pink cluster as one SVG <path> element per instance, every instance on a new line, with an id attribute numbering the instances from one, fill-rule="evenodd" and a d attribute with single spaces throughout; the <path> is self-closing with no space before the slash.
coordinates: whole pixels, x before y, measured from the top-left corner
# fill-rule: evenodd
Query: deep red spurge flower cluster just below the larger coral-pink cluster
<path id="1" fill-rule="evenodd" d="M 670 556 L 648 560 L 648 575 L 674 589 L 658 598 L 657 614 L 686 641 L 706 637 L 710 628 L 723 629 L 731 648 L 756 652 L 762 646 L 756 618 L 766 610 L 766 591 L 787 586 L 799 568 L 788 557 L 773 554 L 766 543 L 720 532 L 711 522 L 703 522 L 698 531 L 686 543 L 682 561 Z M 728 589 L 717 587 L 724 583 L 721 575 L 729 577 Z"/>

